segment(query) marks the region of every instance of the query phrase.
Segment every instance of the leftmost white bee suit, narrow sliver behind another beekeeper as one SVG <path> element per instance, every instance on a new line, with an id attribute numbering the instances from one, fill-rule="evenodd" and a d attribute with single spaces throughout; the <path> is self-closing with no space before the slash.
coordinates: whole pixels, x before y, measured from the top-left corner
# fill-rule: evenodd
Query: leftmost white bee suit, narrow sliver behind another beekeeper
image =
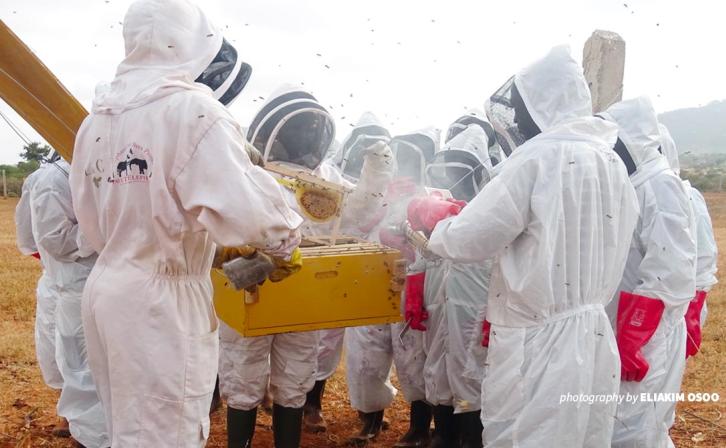
<path id="1" fill-rule="evenodd" d="M 38 254 L 38 244 L 33 232 L 33 186 L 41 177 L 40 169 L 31 173 L 23 182 L 20 201 L 15 207 L 17 246 L 23 255 Z M 63 376 L 55 360 L 55 310 L 57 297 L 51 292 L 52 280 L 40 260 L 43 273 L 35 290 L 35 357 L 38 360 L 43 382 L 52 389 L 63 388 Z"/>

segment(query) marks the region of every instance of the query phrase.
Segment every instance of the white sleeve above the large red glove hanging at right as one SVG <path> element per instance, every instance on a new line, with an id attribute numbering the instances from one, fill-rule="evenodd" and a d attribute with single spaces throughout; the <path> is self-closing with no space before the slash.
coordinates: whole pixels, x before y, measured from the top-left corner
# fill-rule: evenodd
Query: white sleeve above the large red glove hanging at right
<path id="1" fill-rule="evenodd" d="M 634 294 L 660 299 L 670 306 L 688 303 L 696 291 L 693 277 L 696 243 L 690 232 L 687 206 L 678 204 L 671 185 L 658 183 L 646 195 L 646 212 L 637 232 L 644 249 Z M 677 186 L 682 188 L 680 182 Z M 675 188 L 673 187 L 673 188 Z"/>

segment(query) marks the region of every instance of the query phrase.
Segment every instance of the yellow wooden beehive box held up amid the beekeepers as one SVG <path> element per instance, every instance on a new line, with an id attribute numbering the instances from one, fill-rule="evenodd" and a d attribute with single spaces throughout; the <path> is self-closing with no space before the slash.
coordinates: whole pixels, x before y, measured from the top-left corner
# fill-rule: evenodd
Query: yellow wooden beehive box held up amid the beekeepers
<path id="1" fill-rule="evenodd" d="M 265 282 L 256 297 L 236 291 L 221 270 L 213 270 L 219 318 L 243 336 L 401 321 L 405 261 L 400 252 L 372 243 L 314 241 L 306 241 L 301 251 L 300 272 Z"/>

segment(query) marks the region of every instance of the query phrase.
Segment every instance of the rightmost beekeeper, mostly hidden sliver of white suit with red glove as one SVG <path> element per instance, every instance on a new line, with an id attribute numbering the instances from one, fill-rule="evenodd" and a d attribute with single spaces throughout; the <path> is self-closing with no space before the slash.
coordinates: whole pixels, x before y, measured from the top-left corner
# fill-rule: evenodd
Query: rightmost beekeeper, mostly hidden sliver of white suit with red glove
<path id="1" fill-rule="evenodd" d="M 661 136 L 661 151 L 668 159 L 668 164 L 676 176 L 681 175 L 681 165 L 678 161 L 678 150 L 668 128 L 658 123 Z M 696 293 L 688 304 L 686 311 L 686 356 L 691 357 L 698 353 L 701 347 L 701 331 L 706 321 L 708 308 L 706 297 L 718 280 L 716 279 L 718 247 L 713 235 L 711 216 L 703 195 L 688 181 L 683 181 L 686 191 L 689 192 L 691 206 L 695 219 L 696 240 Z"/>

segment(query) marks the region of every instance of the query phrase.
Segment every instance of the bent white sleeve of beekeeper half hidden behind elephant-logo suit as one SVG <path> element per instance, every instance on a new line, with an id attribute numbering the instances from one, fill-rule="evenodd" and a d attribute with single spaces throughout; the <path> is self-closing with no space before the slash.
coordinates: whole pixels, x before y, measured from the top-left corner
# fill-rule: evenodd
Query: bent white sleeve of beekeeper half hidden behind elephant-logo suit
<path id="1" fill-rule="evenodd" d="M 33 216 L 38 247 L 60 261 L 74 261 L 93 253 L 78 247 L 80 229 L 73 213 L 68 180 L 61 174 L 45 173 L 33 191 Z"/>

